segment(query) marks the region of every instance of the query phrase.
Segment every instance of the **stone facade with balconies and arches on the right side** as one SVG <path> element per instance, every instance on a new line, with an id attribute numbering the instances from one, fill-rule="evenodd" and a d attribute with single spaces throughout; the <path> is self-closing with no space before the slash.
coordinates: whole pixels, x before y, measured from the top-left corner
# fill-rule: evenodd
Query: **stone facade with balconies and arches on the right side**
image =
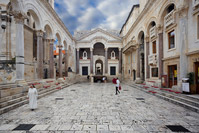
<path id="1" fill-rule="evenodd" d="M 121 29 L 123 75 L 146 84 L 182 88 L 194 73 L 199 93 L 198 0 L 140 0 Z"/>

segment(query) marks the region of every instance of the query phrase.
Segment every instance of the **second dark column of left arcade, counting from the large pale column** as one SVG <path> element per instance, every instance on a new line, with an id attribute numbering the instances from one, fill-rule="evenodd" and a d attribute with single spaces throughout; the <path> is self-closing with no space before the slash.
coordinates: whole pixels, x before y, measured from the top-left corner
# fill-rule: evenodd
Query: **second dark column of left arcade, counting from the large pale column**
<path id="1" fill-rule="evenodd" d="M 54 45 L 54 40 L 50 40 L 50 50 L 49 50 L 49 75 L 50 78 L 54 78 L 54 52 L 53 52 L 53 45 Z"/>

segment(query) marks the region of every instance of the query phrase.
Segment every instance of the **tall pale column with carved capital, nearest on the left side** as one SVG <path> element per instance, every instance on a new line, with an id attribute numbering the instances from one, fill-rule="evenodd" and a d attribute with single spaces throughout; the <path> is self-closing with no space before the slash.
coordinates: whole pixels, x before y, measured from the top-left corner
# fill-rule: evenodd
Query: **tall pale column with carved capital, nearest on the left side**
<path id="1" fill-rule="evenodd" d="M 24 15 L 14 13 L 16 22 L 16 80 L 24 80 Z"/>

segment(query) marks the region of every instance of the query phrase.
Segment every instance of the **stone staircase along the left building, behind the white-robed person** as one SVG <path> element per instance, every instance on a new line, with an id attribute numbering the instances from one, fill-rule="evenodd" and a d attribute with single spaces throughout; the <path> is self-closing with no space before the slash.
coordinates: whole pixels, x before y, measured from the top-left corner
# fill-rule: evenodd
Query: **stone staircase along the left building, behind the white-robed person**
<path id="1" fill-rule="evenodd" d="M 46 95 L 54 93 L 62 88 L 68 87 L 74 82 L 68 83 L 59 83 L 56 80 L 46 80 L 46 81 L 34 81 L 27 82 L 27 85 L 17 87 L 17 85 L 3 86 L 0 90 L 0 114 L 8 112 L 12 109 L 20 107 L 28 103 L 27 92 L 29 85 L 34 84 L 38 91 L 38 98 L 42 98 Z"/>

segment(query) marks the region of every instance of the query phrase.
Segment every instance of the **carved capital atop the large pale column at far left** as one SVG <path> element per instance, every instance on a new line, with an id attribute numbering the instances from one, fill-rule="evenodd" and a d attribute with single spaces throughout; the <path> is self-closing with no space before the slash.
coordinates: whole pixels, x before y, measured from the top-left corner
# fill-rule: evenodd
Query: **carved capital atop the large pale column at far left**
<path id="1" fill-rule="evenodd" d="M 26 14 L 20 11 L 12 11 L 11 14 L 14 16 L 16 24 L 24 24 L 24 19 L 27 18 Z"/>

